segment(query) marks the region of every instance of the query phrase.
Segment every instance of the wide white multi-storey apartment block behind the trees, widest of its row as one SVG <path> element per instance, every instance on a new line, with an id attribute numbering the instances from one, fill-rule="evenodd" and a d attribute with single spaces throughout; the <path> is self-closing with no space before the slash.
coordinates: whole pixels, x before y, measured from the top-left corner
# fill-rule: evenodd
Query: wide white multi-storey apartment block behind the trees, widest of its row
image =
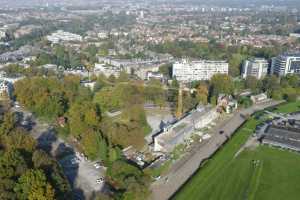
<path id="1" fill-rule="evenodd" d="M 173 64 L 173 77 L 182 82 L 210 80 L 215 74 L 228 74 L 228 63 L 226 61 L 188 62 L 183 60 Z"/>

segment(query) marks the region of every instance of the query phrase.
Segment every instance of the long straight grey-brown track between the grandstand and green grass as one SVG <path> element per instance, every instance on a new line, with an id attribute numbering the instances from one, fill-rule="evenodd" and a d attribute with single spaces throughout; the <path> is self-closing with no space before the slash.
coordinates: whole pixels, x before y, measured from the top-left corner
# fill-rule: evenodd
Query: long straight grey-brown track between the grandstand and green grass
<path id="1" fill-rule="evenodd" d="M 236 112 L 232 118 L 226 120 L 225 123 L 218 125 L 214 130 L 212 138 L 204 145 L 187 154 L 183 160 L 175 163 L 168 175 L 152 184 L 151 199 L 167 200 L 169 199 L 199 168 L 203 160 L 211 157 L 215 151 L 231 136 L 237 128 L 239 128 L 245 119 L 242 115 L 253 114 L 256 111 L 263 110 L 267 107 L 277 105 L 281 102 L 267 102 L 260 105 L 254 105 L 251 108 Z M 224 134 L 218 134 L 220 130 Z"/>

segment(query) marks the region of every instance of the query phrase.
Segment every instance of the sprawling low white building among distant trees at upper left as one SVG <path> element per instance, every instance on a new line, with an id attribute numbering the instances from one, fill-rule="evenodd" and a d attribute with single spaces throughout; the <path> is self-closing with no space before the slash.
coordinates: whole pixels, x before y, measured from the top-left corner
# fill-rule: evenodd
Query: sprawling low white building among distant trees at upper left
<path id="1" fill-rule="evenodd" d="M 64 42 L 64 41 L 82 41 L 82 36 L 74 33 L 64 32 L 62 30 L 58 30 L 52 33 L 51 35 L 48 35 L 47 40 L 49 40 L 54 44 L 58 44 L 59 42 Z"/>

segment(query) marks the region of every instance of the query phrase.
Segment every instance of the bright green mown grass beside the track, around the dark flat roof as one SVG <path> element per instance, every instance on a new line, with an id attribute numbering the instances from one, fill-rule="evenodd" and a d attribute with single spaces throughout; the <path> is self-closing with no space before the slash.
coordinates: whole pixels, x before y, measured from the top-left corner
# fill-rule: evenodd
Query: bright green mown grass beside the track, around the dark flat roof
<path id="1" fill-rule="evenodd" d="M 279 106 L 299 110 L 300 102 Z M 175 200 L 300 199 L 300 154 L 267 146 L 235 153 L 260 121 L 253 118 L 173 197 Z M 257 161 L 254 164 L 254 161 Z"/>

